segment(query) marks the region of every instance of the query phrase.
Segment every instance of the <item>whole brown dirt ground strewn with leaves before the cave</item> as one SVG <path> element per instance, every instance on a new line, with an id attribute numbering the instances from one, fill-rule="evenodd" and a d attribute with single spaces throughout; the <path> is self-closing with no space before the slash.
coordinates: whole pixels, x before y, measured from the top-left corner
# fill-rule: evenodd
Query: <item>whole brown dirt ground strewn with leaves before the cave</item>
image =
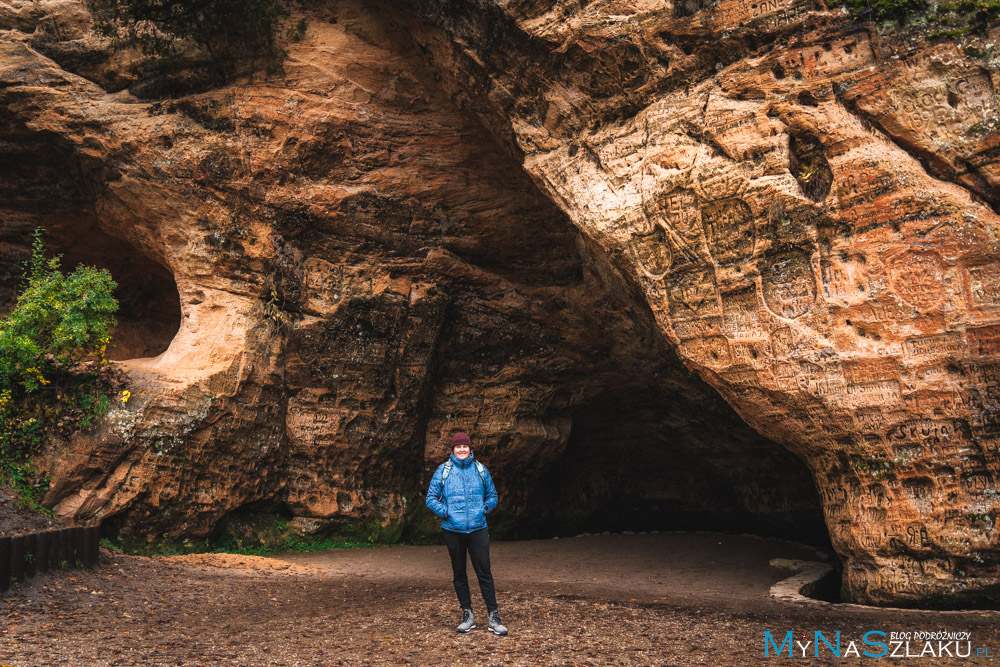
<path id="1" fill-rule="evenodd" d="M 721 543 L 721 544 L 720 544 Z M 494 543 L 508 637 L 458 635 L 443 547 L 262 559 L 104 553 L 0 599 L 10 665 L 760 665 L 764 632 L 967 631 L 1000 664 L 995 614 L 833 612 L 771 602 L 791 543 L 707 533 Z M 483 616 L 481 600 L 474 598 Z M 920 643 L 919 646 L 923 646 Z M 914 644 L 914 648 L 917 645 Z M 863 646 L 862 650 L 879 650 Z M 812 655 L 810 649 L 809 655 Z M 925 659 L 918 664 L 994 664 Z"/>

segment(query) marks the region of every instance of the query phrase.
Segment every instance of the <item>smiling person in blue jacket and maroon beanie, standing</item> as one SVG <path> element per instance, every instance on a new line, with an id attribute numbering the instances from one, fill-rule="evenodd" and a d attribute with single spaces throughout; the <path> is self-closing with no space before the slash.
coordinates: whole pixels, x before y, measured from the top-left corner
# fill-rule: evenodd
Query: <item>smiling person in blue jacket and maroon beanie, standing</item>
<path id="1" fill-rule="evenodd" d="M 486 515 L 497 506 L 497 490 L 490 471 L 472 453 L 465 433 L 451 439 L 451 456 L 438 466 L 427 489 L 427 507 L 441 518 L 441 532 L 451 557 L 455 593 L 462 607 L 462 622 L 457 630 L 468 632 L 476 627 L 472 614 L 472 595 L 466 575 L 466 553 L 479 579 L 479 591 L 486 603 L 489 631 L 506 635 L 500 622 L 493 574 L 490 572 L 490 534 Z"/>

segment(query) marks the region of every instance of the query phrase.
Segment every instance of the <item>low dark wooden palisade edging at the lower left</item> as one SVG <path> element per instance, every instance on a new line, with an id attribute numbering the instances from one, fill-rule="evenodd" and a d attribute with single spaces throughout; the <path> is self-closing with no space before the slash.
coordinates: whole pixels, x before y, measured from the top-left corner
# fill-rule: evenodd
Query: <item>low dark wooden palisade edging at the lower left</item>
<path id="1" fill-rule="evenodd" d="M 98 526 L 0 537 L 0 591 L 49 570 L 94 567 L 100 539 Z"/>

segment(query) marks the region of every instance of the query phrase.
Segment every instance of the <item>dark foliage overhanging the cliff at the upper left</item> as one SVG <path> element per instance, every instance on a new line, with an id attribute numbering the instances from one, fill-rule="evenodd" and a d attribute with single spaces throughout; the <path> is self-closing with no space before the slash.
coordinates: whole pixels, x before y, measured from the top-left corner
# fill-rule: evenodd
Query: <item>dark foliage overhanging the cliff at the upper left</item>
<path id="1" fill-rule="evenodd" d="M 219 74 L 280 68 L 288 18 L 282 0 L 87 0 L 94 29 L 115 48 L 167 56 L 185 40 L 203 47 Z M 305 34 L 305 31 L 302 31 Z"/>

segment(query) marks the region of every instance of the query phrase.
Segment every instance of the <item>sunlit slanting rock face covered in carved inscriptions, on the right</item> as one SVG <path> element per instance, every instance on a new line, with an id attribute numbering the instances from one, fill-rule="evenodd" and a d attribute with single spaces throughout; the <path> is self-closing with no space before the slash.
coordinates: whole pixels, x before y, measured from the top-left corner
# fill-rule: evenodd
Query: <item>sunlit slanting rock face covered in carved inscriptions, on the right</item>
<path id="1" fill-rule="evenodd" d="M 396 3 L 453 99 L 804 458 L 854 599 L 1000 586 L 1000 32 L 821 2 Z"/>

